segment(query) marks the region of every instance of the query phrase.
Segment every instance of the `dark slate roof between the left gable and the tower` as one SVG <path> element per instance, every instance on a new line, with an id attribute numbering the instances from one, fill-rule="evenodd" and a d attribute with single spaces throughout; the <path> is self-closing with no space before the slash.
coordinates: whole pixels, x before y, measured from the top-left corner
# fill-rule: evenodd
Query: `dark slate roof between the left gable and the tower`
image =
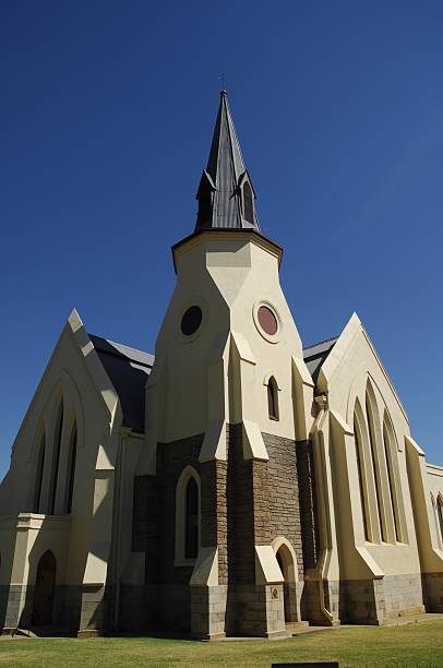
<path id="1" fill-rule="evenodd" d="M 120 398 L 123 427 L 144 431 L 145 383 L 154 355 L 89 334 L 94 348 Z"/>

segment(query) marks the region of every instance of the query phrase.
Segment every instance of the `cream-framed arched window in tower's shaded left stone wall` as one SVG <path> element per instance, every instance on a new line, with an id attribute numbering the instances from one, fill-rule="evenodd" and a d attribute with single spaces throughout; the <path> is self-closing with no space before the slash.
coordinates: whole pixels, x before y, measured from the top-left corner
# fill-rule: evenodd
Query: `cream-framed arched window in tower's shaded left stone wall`
<path id="1" fill-rule="evenodd" d="M 176 490 L 176 565 L 193 563 L 200 549 L 200 477 L 187 466 Z"/>

